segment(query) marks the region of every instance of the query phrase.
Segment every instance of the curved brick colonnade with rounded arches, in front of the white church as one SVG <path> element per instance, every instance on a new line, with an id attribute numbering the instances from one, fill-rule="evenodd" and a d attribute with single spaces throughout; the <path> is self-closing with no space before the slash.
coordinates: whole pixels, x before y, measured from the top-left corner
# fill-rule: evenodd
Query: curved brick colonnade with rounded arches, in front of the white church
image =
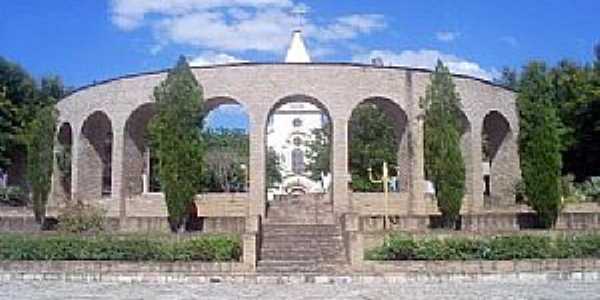
<path id="1" fill-rule="evenodd" d="M 391 213 L 431 213 L 424 197 L 423 110 L 419 106 L 429 84 L 428 71 L 350 64 L 236 64 L 194 68 L 193 72 L 204 88 L 209 109 L 238 103 L 248 113 L 247 216 L 265 213 L 265 128 L 270 112 L 293 101 L 309 101 L 331 118 L 332 195 L 337 214 L 381 212 L 381 201 L 368 200 L 377 197 L 361 200 L 349 187 L 348 121 L 353 109 L 363 102 L 382 108 L 395 122 L 404 194 L 391 201 L 406 203 L 391 205 Z M 81 88 L 58 103 L 59 126 L 69 124 L 71 128 L 72 184 L 65 192 L 65 185 L 57 184 L 60 176 L 55 172 L 55 198 L 70 195 L 94 201 L 104 197 L 119 203 L 122 217 L 130 214 L 127 201 L 143 190 L 144 132 L 154 113 L 152 91 L 165 76 L 165 72 L 156 72 L 117 78 Z M 465 76 L 455 76 L 455 83 L 464 113 L 462 150 L 468 174 L 465 212 L 482 210 L 486 189 L 491 201 L 510 204 L 514 202 L 512 187 L 520 174 L 515 94 Z M 491 153 L 486 155 L 491 174 L 487 187 L 482 181 L 488 172 L 486 164 L 478 163 L 483 162 L 484 141 L 484 150 Z M 364 209 L 365 201 L 373 202 L 367 205 L 369 212 Z"/>

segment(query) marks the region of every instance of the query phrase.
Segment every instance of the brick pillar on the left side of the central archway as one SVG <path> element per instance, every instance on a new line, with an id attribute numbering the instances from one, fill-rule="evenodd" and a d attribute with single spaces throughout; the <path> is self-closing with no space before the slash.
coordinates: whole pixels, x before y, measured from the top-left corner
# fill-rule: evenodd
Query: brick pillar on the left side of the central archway
<path id="1" fill-rule="evenodd" d="M 248 217 L 260 215 L 265 216 L 266 209 L 266 139 L 265 139 L 265 128 L 266 121 L 261 122 L 257 120 L 265 119 L 265 116 L 259 112 L 248 110 L 249 117 L 249 139 L 250 139 L 250 162 L 249 162 L 249 176 L 248 176 Z"/>

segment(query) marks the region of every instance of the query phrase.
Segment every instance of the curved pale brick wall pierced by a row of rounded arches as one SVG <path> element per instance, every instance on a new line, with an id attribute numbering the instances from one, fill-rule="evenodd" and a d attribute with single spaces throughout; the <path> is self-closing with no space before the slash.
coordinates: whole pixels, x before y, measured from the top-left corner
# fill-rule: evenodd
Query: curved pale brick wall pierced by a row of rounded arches
<path id="1" fill-rule="evenodd" d="M 235 101 L 245 107 L 249 116 L 250 135 L 250 191 L 245 215 L 264 215 L 265 212 L 265 126 L 269 112 L 281 104 L 282 99 L 302 95 L 316 99 L 326 109 L 333 124 L 333 200 L 336 214 L 349 212 L 352 205 L 348 183 L 348 120 L 352 110 L 367 99 L 386 99 L 407 117 L 406 130 L 401 143 L 401 153 L 409 153 L 407 159 L 400 156 L 406 166 L 403 177 L 409 195 L 408 214 L 426 215 L 427 202 L 423 196 L 423 111 L 419 98 L 424 96 L 429 84 L 429 72 L 404 68 L 382 68 L 370 65 L 347 64 L 238 64 L 229 66 L 194 68 L 194 74 L 203 85 L 209 103 Z M 120 203 L 120 214 L 128 214 L 127 199 L 139 188 L 129 188 L 131 178 L 138 176 L 135 160 L 139 160 L 136 147 L 132 147 L 130 133 L 126 129 L 132 114 L 145 104 L 152 103 L 152 89 L 165 78 L 165 73 L 150 73 L 124 77 L 80 89 L 57 105 L 62 121 L 68 121 L 74 132 L 73 182 L 74 197 L 89 198 L 98 193 L 98 180 L 94 170 L 97 163 L 89 155 L 89 142 L 83 134 L 84 121 L 95 111 L 102 111 L 110 120 L 114 134 L 112 151 L 112 198 Z M 468 211 L 477 212 L 483 207 L 481 173 L 481 132 L 483 118 L 490 111 L 501 114 L 518 135 L 515 94 L 504 88 L 464 76 L 456 76 L 464 114 L 470 124 L 470 142 L 464 147 L 464 155 L 473 162 L 469 168 L 467 185 Z M 139 135 L 139 133 L 136 133 Z M 406 144 L 404 144 L 406 142 Z M 134 143 L 135 144 L 135 143 Z M 139 149 L 139 147 L 137 147 Z M 129 151 L 126 149 L 133 149 Z M 516 148 L 502 149 L 505 161 L 516 162 L 499 168 L 505 182 L 519 177 Z M 137 158 L 136 158 L 137 157 Z M 131 171 L 131 176 L 127 175 Z M 128 179 L 129 178 L 129 179 Z M 133 180 L 135 181 L 135 180 Z M 91 200 L 91 199 L 90 199 Z M 512 199 L 506 198 L 507 202 Z"/>

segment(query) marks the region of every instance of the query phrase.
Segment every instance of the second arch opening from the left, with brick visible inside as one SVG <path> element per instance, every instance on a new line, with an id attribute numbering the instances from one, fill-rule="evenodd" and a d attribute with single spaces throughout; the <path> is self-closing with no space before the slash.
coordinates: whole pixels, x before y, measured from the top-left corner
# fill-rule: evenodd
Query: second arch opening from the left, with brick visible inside
<path id="1" fill-rule="evenodd" d="M 112 122 L 103 111 L 90 114 L 81 127 L 77 158 L 78 198 L 110 197 L 112 191 Z"/>

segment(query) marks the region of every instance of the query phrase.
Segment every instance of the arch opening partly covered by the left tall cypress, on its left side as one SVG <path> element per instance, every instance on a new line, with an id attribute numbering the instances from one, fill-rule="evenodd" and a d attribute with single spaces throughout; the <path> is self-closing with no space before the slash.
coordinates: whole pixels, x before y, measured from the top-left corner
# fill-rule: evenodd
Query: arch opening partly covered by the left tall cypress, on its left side
<path id="1" fill-rule="evenodd" d="M 125 121 L 122 179 L 125 198 L 152 191 L 148 125 L 155 114 L 156 104 L 145 103 Z"/>

